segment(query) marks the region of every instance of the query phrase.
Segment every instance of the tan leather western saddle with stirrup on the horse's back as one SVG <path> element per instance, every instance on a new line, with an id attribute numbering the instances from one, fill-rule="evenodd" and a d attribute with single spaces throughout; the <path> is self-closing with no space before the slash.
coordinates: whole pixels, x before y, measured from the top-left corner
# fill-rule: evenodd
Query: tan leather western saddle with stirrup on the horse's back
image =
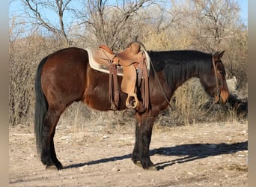
<path id="1" fill-rule="evenodd" d="M 119 106 L 117 67 L 123 68 L 121 91 L 128 94 L 127 108 L 141 108 L 137 93 L 139 93 L 143 109 L 148 108 L 147 59 L 145 52 L 141 51 L 141 43 L 131 43 L 119 53 L 112 52 L 108 46 L 101 45 L 100 49 L 92 49 L 91 54 L 98 64 L 109 67 L 109 100 L 112 103 L 112 110 L 117 110 Z"/>

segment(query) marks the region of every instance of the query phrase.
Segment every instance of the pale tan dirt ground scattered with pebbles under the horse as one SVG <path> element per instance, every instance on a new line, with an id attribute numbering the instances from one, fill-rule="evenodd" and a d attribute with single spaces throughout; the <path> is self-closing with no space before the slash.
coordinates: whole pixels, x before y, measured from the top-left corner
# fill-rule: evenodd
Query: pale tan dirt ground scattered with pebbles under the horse
<path id="1" fill-rule="evenodd" d="M 151 160 L 131 161 L 134 126 L 59 126 L 57 156 L 65 169 L 45 169 L 32 127 L 9 129 L 10 186 L 248 186 L 248 124 L 154 126 Z"/>

